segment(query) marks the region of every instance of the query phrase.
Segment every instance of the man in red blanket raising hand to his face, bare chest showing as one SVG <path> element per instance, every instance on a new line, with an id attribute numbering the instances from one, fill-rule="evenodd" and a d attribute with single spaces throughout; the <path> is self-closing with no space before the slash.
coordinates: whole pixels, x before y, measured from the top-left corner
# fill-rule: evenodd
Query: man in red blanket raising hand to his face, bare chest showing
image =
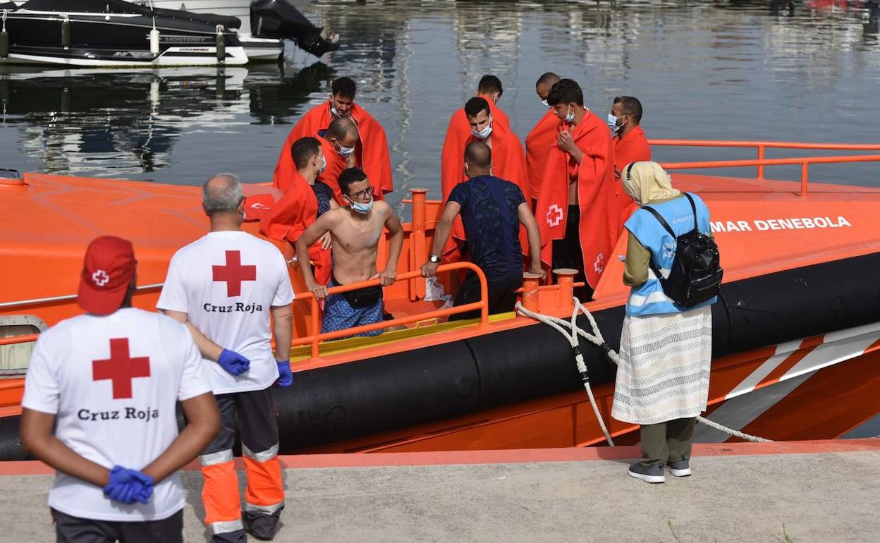
<path id="1" fill-rule="evenodd" d="M 605 119 L 583 106 L 572 79 L 554 84 L 547 102 L 559 119 L 535 216 L 541 230 L 541 260 L 552 268 L 574 268 L 581 300 L 590 299 L 618 238 L 619 204 L 611 133 Z"/>

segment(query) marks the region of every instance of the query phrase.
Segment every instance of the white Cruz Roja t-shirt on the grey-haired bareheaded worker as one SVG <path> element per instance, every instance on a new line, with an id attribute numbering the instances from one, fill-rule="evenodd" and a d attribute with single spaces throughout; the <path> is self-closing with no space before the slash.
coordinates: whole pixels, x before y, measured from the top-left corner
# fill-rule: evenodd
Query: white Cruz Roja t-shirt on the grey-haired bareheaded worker
<path id="1" fill-rule="evenodd" d="M 206 360 L 214 393 L 224 394 L 275 383 L 269 309 L 292 301 L 287 262 L 277 247 L 244 231 L 216 231 L 174 254 L 156 306 L 187 313 L 211 341 L 251 361 L 248 371 L 232 376 Z"/>

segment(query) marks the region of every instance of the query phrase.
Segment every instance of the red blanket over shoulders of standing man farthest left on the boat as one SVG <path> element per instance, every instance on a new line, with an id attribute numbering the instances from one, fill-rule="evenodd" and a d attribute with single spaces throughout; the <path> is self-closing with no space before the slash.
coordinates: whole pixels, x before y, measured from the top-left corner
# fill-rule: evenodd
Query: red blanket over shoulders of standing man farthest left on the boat
<path id="1" fill-rule="evenodd" d="M 312 136 L 319 138 L 319 140 L 324 140 L 319 134 L 323 133 L 330 125 L 330 121 L 333 120 L 330 114 L 330 106 L 331 102 L 327 100 L 320 106 L 312 107 L 297 122 L 297 126 L 290 130 L 290 135 L 284 141 L 281 154 L 278 156 L 278 162 L 275 165 L 273 180 L 275 187 L 285 190 L 284 187 L 289 183 L 287 180 L 290 179 L 291 172 L 295 172 L 297 169 L 293 164 L 293 158 L 290 157 L 290 147 L 294 142 L 304 136 Z M 385 137 L 385 128 L 382 128 L 382 125 L 372 115 L 367 113 L 367 110 L 357 104 L 352 104 L 350 111 L 349 118 L 355 121 L 357 130 L 360 133 L 360 139 L 355 148 L 357 162 L 363 169 L 363 172 L 367 174 L 367 178 L 370 179 L 370 186 L 375 191 L 375 197 L 378 200 L 382 200 L 385 193 L 390 193 L 394 190 L 391 175 L 391 157 L 388 154 L 388 139 Z M 329 169 L 331 160 L 326 152 L 326 146 L 324 148 L 324 155 L 327 158 L 327 169 Z M 338 178 L 339 175 L 337 174 L 336 177 Z M 323 177 L 321 179 L 324 180 Z M 338 186 L 335 180 L 333 183 L 326 180 L 325 182 L 330 187 Z M 337 190 L 337 188 L 334 188 L 334 192 Z"/>

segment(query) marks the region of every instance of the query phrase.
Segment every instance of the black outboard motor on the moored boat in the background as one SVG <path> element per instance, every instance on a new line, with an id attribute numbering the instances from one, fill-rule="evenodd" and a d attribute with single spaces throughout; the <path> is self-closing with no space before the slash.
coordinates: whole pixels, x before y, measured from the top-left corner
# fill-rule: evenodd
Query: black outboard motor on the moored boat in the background
<path id="1" fill-rule="evenodd" d="M 294 7 L 290 0 L 253 0 L 251 33 L 258 38 L 294 40 L 297 46 L 315 56 L 339 48 L 339 35 L 324 36 L 322 28 Z"/>

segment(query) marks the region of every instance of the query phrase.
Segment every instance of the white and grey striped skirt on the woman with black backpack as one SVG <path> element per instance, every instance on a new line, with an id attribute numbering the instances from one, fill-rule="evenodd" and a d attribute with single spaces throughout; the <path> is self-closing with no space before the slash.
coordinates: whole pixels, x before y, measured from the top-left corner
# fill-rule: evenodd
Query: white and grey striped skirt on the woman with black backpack
<path id="1" fill-rule="evenodd" d="M 612 416 L 656 424 L 706 410 L 712 361 L 712 310 L 623 319 Z"/>

